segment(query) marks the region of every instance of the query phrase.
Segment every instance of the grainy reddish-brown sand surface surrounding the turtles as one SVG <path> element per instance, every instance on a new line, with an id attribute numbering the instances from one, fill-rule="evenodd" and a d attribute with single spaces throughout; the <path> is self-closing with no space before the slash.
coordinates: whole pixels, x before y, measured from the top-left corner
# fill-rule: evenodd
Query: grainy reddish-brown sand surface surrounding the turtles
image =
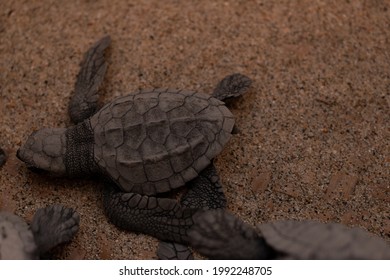
<path id="1" fill-rule="evenodd" d="M 234 104 L 240 133 L 216 159 L 228 209 L 254 225 L 316 219 L 390 239 L 390 2 L 0 2 L 0 208 L 30 220 L 52 203 L 81 227 L 65 259 L 153 259 L 157 240 L 109 224 L 99 182 L 33 174 L 15 153 L 70 124 L 83 53 L 112 45 L 102 102 L 140 88 L 211 92 L 254 81 Z"/>

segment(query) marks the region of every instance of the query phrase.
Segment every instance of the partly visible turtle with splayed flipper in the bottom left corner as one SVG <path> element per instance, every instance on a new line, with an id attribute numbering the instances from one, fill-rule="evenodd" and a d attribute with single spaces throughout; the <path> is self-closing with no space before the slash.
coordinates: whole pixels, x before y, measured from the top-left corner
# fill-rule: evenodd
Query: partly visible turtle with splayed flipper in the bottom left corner
<path id="1" fill-rule="evenodd" d="M 57 245 L 70 241 L 79 229 L 79 215 L 61 205 L 40 208 L 31 225 L 0 211 L 0 259 L 38 259 Z"/>

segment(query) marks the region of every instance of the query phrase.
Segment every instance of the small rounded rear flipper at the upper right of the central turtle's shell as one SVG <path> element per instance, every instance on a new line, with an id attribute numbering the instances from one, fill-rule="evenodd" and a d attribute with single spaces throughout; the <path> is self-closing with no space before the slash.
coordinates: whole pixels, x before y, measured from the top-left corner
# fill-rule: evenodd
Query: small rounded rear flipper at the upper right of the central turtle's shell
<path id="1" fill-rule="evenodd" d="M 212 96 L 226 100 L 243 95 L 248 91 L 252 80 L 245 75 L 236 73 L 223 78 L 215 87 Z"/>

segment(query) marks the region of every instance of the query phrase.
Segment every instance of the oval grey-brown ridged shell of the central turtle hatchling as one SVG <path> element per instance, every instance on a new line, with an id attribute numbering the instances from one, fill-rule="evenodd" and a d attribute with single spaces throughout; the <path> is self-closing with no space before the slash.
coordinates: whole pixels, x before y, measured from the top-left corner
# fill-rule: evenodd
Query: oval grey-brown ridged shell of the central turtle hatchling
<path id="1" fill-rule="evenodd" d="M 229 140 L 234 118 L 210 95 L 151 89 L 90 119 L 94 160 L 124 191 L 152 195 L 195 178 Z"/>

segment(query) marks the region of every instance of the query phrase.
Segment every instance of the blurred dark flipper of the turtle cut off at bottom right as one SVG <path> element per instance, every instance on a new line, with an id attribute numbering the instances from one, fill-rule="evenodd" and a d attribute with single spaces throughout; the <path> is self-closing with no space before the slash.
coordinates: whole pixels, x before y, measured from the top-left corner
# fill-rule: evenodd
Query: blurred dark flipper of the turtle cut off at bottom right
<path id="1" fill-rule="evenodd" d="M 199 212 L 188 231 L 190 245 L 212 259 L 268 259 L 272 250 L 256 230 L 223 210 Z"/>

